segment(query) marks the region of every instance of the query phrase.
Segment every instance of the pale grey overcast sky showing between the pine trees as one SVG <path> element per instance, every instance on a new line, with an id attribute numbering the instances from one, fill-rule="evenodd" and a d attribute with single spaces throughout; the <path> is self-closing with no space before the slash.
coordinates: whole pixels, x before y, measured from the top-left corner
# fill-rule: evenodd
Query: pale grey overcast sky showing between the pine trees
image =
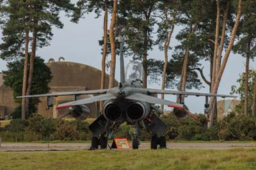
<path id="1" fill-rule="evenodd" d="M 101 69 L 101 50 L 99 47 L 98 40 L 103 36 L 102 33 L 102 23 L 103 17 L 99 19 L 94 18 L 95 15 L 87 15 L 85 19 L 80 20 L 78 24 L 69 22 L 67 17 L 64 15 L 61 20 L 64 23 L 63 29 L 53 28 L 53 38 L 51 45 L 44 47 L 43 49 L 38 49 L 37 55 L 41 56 L 48 61 L 49 58 L 54 58 L 58 60 L 60 56 L 64 57 L 66 61 L 72 61 L 76 63 L 83 63 L 85 65 L 94 66 L 95 68 Z M 173 33 L 173 39 L 171 46 L 178 44 L 175 40 L 175 35 L 179 32 L 180 27 L 176 27 Z M 0 29 L 0 32 L 1 29 Z M 2 35 L 0 34 L 0 38 Z M 0 40 L 0 42 L 2 42 Z M 169 59 L 170 59 L 169 55 Z M 154 47 L 154 50 L 148 52 L 148 58 L 163 59 L 163 51 L 159 51 L 158 47 Z M 129 62 L 131 58 L 125 58 L 125 64 Z M 110 60 L 110 56 L 108 57 Z M 116 80 L 120 80 L 120 67 L 119 67 L 119 56 L 116 56 Z M 239 55 L 230 54 L 228 59 L 225 72 L 223 73 L 223 78 L 221 79 L 219 93 L 229 94 L 232 85 L 237 85 L 237 78 L 239 74 L 245 70 L 245 59 Z M 202 62 L 204 66 L 204 72 L 209 79 L 209 63 Z M 250 62 L 250 68 L 256 69 L 256 62 Z M 182 69 L 182 68 L 180 68 Z M 0 70 L 6 70 L 6 61 L 0 59 Z M 202 81 L 205 88 L 201 89 L 199 92 L 209 92 L 207 84 Z M 160 84 L 149 84 L 149 88 L 161 88 Z M 191 89 L 189 91 L 198 91 Z M 168 100 L 175 100 L 172 95 L 166 96 Z M 191 112 L 204 112 L 204 97 L 188 97 L 185 99 L 186 105 L 188 105 Z M 168 109 L 168 108 L 167 108 Z"/>

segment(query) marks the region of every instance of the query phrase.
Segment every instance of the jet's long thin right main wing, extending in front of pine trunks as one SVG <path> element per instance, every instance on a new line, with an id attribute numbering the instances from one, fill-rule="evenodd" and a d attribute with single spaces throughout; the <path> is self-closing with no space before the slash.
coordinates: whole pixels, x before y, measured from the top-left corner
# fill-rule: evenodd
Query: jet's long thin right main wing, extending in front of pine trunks
<path id="1" fill-rule="evenodd" d="M 188 91 L 175 91 L 175 90 L 163 90 L 163 89 L 148 89 L 149 93 L 157 93 L 157 94 L 167 94 L 167 95 L 191 95 L 196 97 L 233 97 L 236 98 L 237 96 L 234 95 L 219 95 L 219 94 L 212 94 L 212 93 L 196 93 L 196 92 L 188 92 Z"/>

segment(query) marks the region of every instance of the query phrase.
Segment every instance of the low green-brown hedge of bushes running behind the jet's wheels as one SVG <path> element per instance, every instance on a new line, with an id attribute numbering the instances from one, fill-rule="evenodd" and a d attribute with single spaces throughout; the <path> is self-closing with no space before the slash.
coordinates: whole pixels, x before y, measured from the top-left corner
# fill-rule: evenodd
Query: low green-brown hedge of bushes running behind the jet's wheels
<path id="1" fill-rule="evenodd" d="M 161 119 L 168 125 L 166 138 L 181 141 L 253 141 L 256 140 L 256 118 L 236 116 L 229 114 L 223 120 L 214 123 L 207 129 L 207 120 L 204 114 L 197 114 L 198 120 L 188 117 L 184 120 L 170 113 Z M 46 119 L 33 114 L 28 120 L 12 120 L 10 125 L 0 128 L 0 136 L 3 141 L 90 141 L 92 133 L 86 121 L 64 121 Z M 113 134 L 113 137 L 126 137 L 132 139 L 132 127 L 122 124 Z M 141 130 L 141 141 L 150 141 L 150 134 Z"/>

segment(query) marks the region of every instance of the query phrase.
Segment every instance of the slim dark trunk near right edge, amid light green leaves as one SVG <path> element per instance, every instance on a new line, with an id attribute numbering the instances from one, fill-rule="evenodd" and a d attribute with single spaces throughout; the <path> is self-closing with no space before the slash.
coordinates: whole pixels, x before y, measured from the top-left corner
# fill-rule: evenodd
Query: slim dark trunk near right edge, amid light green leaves
<path id="1" fill-rule="evenodd" d="M 249 46 L 250 48 L 250 46 Z M 248 77 L 249 77 L 250 55 L 246 56 L 245 82 L 244 82 L 244 116 L 248 116 Z"/>

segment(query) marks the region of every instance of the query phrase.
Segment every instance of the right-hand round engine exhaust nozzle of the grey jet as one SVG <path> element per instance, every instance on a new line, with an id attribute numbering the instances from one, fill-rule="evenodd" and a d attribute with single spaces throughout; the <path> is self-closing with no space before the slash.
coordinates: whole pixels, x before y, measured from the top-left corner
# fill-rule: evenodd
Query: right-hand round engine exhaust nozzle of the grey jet
<path id="1" fill-rule="evenodd" d="M 145 119 L 150 112 L 150 105 L 143 102 L 134 102 L 127 106 L 126 116 L 128 121 L 140 121 Z"/>

